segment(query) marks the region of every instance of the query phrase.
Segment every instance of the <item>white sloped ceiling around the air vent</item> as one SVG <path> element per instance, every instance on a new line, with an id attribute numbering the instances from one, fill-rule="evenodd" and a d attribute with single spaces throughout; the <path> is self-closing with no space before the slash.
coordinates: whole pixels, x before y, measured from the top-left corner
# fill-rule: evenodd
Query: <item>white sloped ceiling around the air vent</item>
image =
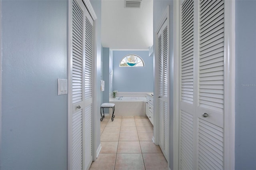
<path id="1" fill-rule="evenodd" d="M 153 45 L 153 0 L 125 8 L 124 0 L 102 0 L 101 40 L 110 49 L 148 49 Z"/>

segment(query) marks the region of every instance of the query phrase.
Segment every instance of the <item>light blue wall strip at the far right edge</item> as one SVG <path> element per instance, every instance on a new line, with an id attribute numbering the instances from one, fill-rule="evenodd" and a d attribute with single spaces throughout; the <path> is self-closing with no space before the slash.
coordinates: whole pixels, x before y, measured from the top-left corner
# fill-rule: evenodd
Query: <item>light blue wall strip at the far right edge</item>
<path id="1" fill-rule="evenodd" d="M 255 0 L 236 0 L 236 170 L 256 169 L 255 9 Z"/>

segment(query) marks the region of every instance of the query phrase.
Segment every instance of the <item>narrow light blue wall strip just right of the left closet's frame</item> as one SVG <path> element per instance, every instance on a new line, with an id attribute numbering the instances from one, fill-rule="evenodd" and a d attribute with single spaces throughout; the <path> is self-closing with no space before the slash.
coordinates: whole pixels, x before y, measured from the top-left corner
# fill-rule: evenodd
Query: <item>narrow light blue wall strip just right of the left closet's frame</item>
<path id="1" fill-rule="evenodd" d="M 101 63 L 103 61 L 102 45 L 101 45 L 101 0 L 90 0 L 94 12 L 96 13 L 97 20 L 97 75 L 96 75 L 96 98 L 97 101 L 94 103 L 96 105 L 96 149 L 100 146 L 100 105 L 103 102 L 103 92 L 100 91 L 100 80 L 102 79 L 102 67 Z"/>

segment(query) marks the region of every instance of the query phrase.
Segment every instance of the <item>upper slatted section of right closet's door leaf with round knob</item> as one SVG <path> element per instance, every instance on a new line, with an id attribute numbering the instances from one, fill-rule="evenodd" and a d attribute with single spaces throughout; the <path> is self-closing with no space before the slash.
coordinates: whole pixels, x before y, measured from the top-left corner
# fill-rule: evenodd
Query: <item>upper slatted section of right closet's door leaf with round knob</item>
<path id="1" fill-rule="evenodd" d="M 200 39 L 199 48 L 199 103 L 200 107 L 210 108 L 220 113 L 223 113 L 224 108 L 223 95 L 216 96 L 212 93 L 201 95 L 200 89 L 224 90 L 223 9 L 224 1 L 219 0 L 200 8 L 200 37 L 203 38 Z M 209 22 L 211 24 L 207 24 Z M 218 35 L 212 36 L 216 32 Z M 211 79 L 212 76 L 217 76 L 218 79 Z"/>

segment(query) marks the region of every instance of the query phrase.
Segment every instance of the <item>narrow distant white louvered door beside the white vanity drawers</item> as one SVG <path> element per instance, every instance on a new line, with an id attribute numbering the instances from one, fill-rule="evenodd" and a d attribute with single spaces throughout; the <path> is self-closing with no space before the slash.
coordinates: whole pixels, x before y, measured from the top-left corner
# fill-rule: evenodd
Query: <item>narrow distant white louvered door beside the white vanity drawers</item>
<path id="1" fill-rule="evenodd" d="M 169 153 L 169 39 L 167 21 L 158 32 L 158 134 L 159 146 Z"/>

